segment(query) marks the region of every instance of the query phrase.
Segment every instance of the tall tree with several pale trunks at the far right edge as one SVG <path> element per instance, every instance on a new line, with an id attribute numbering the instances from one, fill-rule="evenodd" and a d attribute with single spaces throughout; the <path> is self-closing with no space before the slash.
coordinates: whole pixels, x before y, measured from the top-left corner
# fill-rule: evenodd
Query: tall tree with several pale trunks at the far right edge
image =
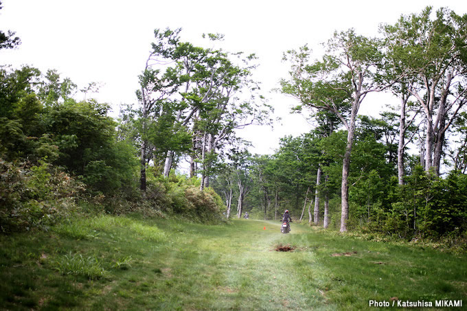
<path id="1" fill-rule="evenodd" d="M 401 16 L 384 33 L 399 69 L 410 77 L 405 87 L 425 115 L 424 168 L 439 175 L 446 130 L 467 102 L 467 14 L 441 8 L 432 20 L 431 13 L 426 7 Z"/>

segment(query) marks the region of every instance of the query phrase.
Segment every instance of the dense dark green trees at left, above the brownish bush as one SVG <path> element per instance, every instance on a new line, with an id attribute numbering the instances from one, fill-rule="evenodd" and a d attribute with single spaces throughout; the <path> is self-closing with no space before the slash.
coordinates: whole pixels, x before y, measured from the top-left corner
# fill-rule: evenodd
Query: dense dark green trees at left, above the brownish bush
<path id="1" fill-rule="evenodd" d="M 80 176 L 93 194 L 133 183 L 135 150 L 117 141 L 109 105 L 77 102 L 76 84 L 54 70 L 43 76 L 31 67 L 2 67 L 0 74 L 0 152 L 6 160 L 46 159 Z"/>

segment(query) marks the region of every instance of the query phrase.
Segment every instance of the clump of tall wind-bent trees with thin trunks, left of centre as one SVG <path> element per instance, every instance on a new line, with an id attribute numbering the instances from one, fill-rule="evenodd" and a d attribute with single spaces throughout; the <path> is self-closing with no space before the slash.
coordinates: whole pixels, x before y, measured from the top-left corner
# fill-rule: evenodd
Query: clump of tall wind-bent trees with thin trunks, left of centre
<path id="1" fill-rule="evenodd" d="M 167 177 L 177 153 L 192 157 L 192 176 L 198 158 L 203 189 L 223 141 L 235 129 L 262 122 L 265 113 L 253 97 L 238 96 L 242 89 L 251 94 L 259 89 L 251 80 L 255 65 L 249 65 L 255 56 L 197 47 L 182 42 L 179 32 L 155 30 L 156 42 L 140 76 L 141 189 L 148 154 L 163 154 Z M 219 34 L 204 37 L 223 38 Z"/>

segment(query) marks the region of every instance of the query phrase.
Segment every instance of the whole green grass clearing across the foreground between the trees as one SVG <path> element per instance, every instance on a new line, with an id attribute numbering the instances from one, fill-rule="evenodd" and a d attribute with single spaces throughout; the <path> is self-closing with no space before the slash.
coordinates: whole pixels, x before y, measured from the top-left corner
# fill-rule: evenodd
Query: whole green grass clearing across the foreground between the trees
<path id="1" fill-rule="evenodd" d="M 0 237 L 6 310 L 365 310 L 369 299 L 463 299 L 467 256 L 280 222 L 139 216 Z M 266 227 L 266 230 L 264 230 Z M 293 252 L 274 251 L 290 244 Z M 345 255 L 347 254 L 347 255 Z"/>

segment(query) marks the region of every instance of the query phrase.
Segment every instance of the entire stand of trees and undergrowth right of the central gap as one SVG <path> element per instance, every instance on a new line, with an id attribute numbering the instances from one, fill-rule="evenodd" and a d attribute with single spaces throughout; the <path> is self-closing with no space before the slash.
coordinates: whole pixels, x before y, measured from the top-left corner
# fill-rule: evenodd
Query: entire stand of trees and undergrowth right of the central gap
<path id="1" fill-rule="evenodd" d="M 320 58 L 306 45 L 286 51 L 291 71 L 280 91 L 315 130 L 284 137 L 271 157 L 229 165 L 234 173 L 217 186 L 227 205 L 238 184 L 238 215 L 244 201 L 265 218 L 277 208 L 302 218 L 308 206 L 310 221 L 340 231 L 465 234 L 466 26 L 466 14 L 428 7 L 381 25 L 378 38 L 336 32 Z M 382 104 L 367 99 L 375 92 L 399 103 L 379 119 L 358 115 Z"/>

